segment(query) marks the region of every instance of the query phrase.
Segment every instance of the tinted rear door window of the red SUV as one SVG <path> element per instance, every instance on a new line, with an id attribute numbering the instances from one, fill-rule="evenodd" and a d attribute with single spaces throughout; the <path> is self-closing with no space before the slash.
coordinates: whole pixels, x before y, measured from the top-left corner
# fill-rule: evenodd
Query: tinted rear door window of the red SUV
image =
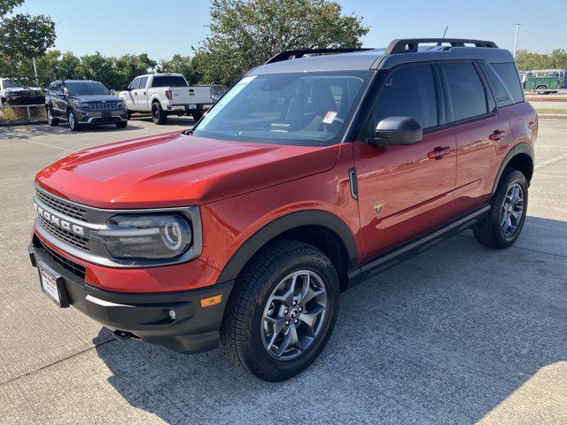
<path id="1" fill-rule="evenodd" d="M 472 63 L 442 64 L 441 70 L 447 84 L 447 118 L 450 121 L 468 120 L 488 113 L 485 86 Z"/>

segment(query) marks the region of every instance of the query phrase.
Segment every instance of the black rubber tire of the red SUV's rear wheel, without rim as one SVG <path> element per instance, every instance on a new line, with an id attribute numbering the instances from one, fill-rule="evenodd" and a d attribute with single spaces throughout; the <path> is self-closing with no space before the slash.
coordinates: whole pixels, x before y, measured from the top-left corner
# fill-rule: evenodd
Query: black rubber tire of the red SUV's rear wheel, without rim
<path id="1" fill-rule="evenodd" d="M 505 210 L 503 205 L 509 190 L 516 185 L 523 191 L 522 213 L 517 221 L 515 230 L 508 235 L 501 224 L 503 218 L 502 214 Z M 512 243 L 516 242 L 522 232 L 522 228 L 524 228 L 525 215 L 528 208 L 528 183 L 525 180 L 524 174 L 513 169 L 505 170 L 490 204 L 490 213 L 488 213 L 488 216 L 478 223 L 472 231 L 478 242 L 489 248 L 508 248 Z"/>

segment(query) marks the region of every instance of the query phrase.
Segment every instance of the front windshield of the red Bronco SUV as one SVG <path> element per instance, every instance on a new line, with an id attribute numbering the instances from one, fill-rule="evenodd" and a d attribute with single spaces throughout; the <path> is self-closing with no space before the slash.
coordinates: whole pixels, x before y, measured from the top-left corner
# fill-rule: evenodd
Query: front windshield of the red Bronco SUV
<path id="1" fill-rule="evenodd" d="M 371 71 L 244 77 L 199 122 L 193 135 L 233 141 L 338 143 Z"/>

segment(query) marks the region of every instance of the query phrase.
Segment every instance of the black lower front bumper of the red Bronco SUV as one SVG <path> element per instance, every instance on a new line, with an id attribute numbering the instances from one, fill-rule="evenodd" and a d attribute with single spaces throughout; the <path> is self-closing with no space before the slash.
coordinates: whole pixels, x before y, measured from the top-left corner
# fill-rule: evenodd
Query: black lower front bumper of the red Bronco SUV
<path id="1" fill-rule="evenodd" d="M 61 275 L 70 305 L 110 328 L 115 335 L 135 336 L 175 352 L 213 350 L 219 344 L 222 315 L 234 282 L 198 290 L 161 293 L 122 293 L 100 290 L 85 283 L 73 263 L 34 238 L 29 256 L 36 267 L 41 262 Z M 206 308 L 201 298 L 222 295 L 221 304 Z M 175 312 L 175 320 L 170 311 Z"/>

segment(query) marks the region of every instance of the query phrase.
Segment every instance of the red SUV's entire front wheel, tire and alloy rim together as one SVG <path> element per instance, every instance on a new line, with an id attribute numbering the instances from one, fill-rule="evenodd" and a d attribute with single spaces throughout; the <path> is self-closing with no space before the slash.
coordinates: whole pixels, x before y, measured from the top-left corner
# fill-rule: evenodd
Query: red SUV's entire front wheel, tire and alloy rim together
<path id="1" fill-rule="evenodd" d="M 307 243 L 278 241 L 238 277 L 221 327 L 237 365 L 264 381 L 299 374 L 321 354 L 335 326 L 335 267 Z"/>

